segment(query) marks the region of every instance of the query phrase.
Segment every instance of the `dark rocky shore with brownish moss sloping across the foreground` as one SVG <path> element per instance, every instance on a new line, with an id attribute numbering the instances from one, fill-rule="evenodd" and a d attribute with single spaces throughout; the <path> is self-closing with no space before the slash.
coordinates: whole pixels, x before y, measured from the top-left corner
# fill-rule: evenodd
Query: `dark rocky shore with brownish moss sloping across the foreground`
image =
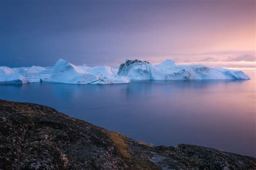
<path id="1" fill-rule="evenodd" d="M 194 145 L 152 146 L 43 105 L 0 100 L 0 169 L 182 168 L 256 169 L 256 158 Z"/>

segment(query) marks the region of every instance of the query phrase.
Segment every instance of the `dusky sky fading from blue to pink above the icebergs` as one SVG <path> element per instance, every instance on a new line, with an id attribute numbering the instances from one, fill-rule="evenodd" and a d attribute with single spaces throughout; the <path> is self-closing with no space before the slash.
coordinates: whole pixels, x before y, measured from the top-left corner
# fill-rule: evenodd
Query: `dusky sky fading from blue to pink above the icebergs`
<path id="1" fill-rule="evenodd" d="M 126 59 L 255 68 L 254 0 L 2 0 L 0 66 Z"/>

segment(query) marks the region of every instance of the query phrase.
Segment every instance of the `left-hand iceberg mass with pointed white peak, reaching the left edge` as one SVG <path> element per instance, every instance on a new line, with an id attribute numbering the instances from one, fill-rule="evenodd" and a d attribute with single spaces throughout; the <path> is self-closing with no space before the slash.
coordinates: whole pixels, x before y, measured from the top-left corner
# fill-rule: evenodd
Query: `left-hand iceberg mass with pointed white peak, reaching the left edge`
<path id="1" fill-rule="evenodd" d="M 21 84 L 34 82 L 69 84 L 129 83 L 127 77 L 117 75 L 110 66 L 75 66 L 59 59 L 53 67 L 0 67 L 0 83 Z"/>

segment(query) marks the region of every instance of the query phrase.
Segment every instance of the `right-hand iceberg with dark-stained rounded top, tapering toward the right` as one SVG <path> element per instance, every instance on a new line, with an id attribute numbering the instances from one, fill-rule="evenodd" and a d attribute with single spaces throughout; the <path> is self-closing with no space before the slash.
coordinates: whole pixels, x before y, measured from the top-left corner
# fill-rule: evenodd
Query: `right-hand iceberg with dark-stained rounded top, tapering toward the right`
<path id="1" fill-rule="evenodd" d="M 118 75 L 130 80 L 237 80 L 250 79 L 241 71 L 225 68 L 211 68 L 203 65 L 179 65 L 165 60 L 159 65 L 140 60 L 126 60 L 121 64 Z"/>

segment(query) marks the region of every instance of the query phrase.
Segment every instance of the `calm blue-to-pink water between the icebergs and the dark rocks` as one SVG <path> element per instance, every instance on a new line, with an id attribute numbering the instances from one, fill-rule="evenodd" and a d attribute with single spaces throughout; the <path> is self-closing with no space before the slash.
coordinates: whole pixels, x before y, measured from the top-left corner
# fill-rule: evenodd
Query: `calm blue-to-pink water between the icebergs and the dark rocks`
<path id="1" fill-rule="evenodd" d="M 0 98 L 48 105 L 154 145 L 195 144 L 256 157 L 254 80 L 1 85 Z"/>

